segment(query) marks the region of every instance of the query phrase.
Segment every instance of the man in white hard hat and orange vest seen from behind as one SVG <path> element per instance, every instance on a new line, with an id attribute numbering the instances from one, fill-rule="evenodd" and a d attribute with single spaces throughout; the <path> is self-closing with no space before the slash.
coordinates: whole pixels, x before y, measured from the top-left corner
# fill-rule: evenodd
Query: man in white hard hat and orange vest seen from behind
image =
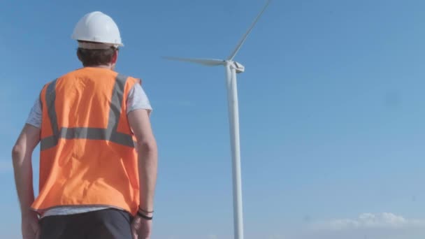
<path id="1" fill-rule="evenodd" d="M 88 13 L 73 39 L 83 67 L 44 85 L 13 147 L 22 236 L 150 238 L 157 145 L 149 100 L 141 80 L 114 71 L 122 42 L 112 18 Z"/>

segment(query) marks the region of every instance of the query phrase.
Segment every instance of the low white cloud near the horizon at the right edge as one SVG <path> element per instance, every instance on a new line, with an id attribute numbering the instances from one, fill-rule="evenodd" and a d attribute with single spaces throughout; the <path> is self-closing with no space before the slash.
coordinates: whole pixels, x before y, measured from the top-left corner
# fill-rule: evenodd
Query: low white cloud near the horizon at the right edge
<path id="1" fill-rule="evenodd" d="M 347 230 L 347 229 L 402 229 L 407 227 L 425 228 L 425 220 L 405 219 L 391 212 L 375 215 L 363 213 L 356 219 L 333 219 L 329 222 L 319 222 L 312 225 L 312 229 Z"/>

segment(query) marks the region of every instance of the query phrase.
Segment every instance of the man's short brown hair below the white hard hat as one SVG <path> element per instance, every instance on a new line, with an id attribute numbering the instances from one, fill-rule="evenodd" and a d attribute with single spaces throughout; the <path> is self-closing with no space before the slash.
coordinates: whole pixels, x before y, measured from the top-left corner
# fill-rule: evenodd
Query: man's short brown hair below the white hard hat
<path id="1" fill-rule="evenodd" d="M 82 66 L 101 66 L 107 65 L 112 60 L 116 48 L 89 50 L 78 48 L 78 59 L 82 62 Z"/>

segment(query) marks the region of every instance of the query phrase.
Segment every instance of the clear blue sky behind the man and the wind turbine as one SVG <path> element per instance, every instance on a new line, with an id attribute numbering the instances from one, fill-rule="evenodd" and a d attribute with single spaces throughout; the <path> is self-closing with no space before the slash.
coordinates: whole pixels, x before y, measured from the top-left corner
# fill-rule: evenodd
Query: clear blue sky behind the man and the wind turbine
<path id="1" fill-rule="evenodd" d="M 60 4 L 0 9 L 1 233 L 20 234 L 11 147 L 45 82 L 80 67 L 74 25 L 101 10 L 124 41 L 117 71 L 143 78 L 154 108 L 154 238 L 232 238 L 224 68 L 161 56 L 227 57 L 264 1 Z M 424 8 L 271 3 L 236 57 L 245 238 L 424 238 Z"/>

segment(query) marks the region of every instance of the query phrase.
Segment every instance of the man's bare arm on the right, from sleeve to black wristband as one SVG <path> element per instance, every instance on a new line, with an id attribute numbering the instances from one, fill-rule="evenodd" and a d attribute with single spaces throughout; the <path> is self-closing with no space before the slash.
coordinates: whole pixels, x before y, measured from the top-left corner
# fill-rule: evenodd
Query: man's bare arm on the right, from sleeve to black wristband
<path id="1" fill-rule="evenodd" d="M 157 182 L 158 151 L 147 110 L 133 110 L 128 114 L 129 124 L 137 138 L 138 172 L 140 178 L 140 208 L 152 211 Z"/>

